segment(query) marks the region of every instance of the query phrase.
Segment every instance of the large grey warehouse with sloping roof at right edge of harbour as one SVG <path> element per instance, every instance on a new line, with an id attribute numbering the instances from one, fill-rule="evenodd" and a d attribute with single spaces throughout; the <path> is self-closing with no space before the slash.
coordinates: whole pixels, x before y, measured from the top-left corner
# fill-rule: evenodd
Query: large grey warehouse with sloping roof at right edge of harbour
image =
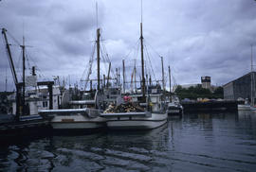
<path id="1" fill-rule="evenodd" d="M 253 80 L 253 82 L 251 82 Z M 256 72 L 250 72 L 243 77 L 239 77 L 235 80 L 223 86 L 224 99 L 237 100 L 238 98 L 248 98 L 251 100 L 251 95 L 255 99 L 255 86 L 256 86 Z M 252 88 L 252 89 L 251 89 Z"/>

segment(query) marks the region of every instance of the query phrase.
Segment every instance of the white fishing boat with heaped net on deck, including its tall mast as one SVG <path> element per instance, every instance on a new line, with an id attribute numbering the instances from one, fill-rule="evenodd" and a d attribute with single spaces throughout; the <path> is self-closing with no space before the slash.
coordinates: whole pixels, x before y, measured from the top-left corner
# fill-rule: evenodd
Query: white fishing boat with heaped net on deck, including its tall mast
<path id="1" fill-rule="evenodd" d="M 167 122 L 163 94 L 159 89 L 149 89 L 145 84 L 142 22 L 140 23 L 141 44 L 141 93 L 142 95 L 124 95 L 124 102 L 116 102 L 101 113 L 107 119 L 108 129 L 155 129 Z M 124 75 L 123 75 L 124 76 Z M 124 80 L 124 79 L 123 79 Z M 147 92 L 147 94 L 146 94 Z M 131 101 L 131 100 L 134 101 Z M 125 108 L 127 107 L 127 108 Z"/>

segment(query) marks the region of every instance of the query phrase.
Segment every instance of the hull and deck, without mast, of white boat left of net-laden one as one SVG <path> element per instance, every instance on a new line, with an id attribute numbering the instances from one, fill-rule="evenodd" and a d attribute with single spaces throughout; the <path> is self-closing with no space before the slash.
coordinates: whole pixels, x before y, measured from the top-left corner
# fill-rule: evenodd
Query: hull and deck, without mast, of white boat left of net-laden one
<path id="1" fill-rule="evenodd" d="M 97 94 L 94 99 L 69 101 L 69 109 L 40 110 L 39 113 L 51 118 L 50 125 L 55 131 L 88 131 L 105 127 L 106 120 L 96 108 Z M 91 97 L 91 96 L 90 96 Z"/>

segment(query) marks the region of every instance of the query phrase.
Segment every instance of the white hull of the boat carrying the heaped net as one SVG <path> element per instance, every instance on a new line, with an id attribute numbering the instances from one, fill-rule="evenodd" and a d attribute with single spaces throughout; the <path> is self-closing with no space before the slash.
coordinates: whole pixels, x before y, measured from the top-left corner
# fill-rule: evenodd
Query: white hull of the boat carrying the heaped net
<path id="1" fill-rule="evenodd" d="M 152 113 L 151 117 L 115 116 L 106 122 L 109 129 L 155 129 L 167 122 L 167 113 Z"/>

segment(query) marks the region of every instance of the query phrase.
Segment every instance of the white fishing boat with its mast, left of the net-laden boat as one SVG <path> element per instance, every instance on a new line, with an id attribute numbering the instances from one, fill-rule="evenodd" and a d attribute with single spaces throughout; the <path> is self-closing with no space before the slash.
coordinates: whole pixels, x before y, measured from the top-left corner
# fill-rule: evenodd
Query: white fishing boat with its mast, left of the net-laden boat
<path id="1" fill-rule="evenodd" d="M 86 131 L 105 127 L 106 119 L 100 116 L 101 108 L 103 107 L 102 99 L 104 99 L 100 87 L 100 37 L 101 30 L 98 28 L 96 41 L 98 61 L 97 90 L 91 89 L 90 92 L 84 92 L 81 100 L 68 101 L 70 107 L 68 109 L 40 111 L 40 114 L 44 116 L 51 116 L 50 124 L 55 130 Z M 86 79 L 87 81 L 88 78 Z M 69 96 L 67 95 L 66 97 Z"/>

